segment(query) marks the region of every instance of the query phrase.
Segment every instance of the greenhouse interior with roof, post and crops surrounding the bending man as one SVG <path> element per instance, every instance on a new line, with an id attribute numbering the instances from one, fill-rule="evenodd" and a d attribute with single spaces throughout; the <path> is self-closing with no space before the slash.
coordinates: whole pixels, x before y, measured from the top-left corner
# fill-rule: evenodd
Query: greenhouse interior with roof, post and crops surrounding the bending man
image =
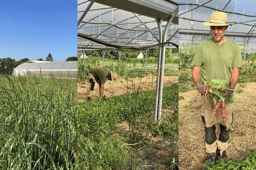
<path id="1" fill-rule="evenodd" d="M 178 0 L 78 0 L 77 8 L 81 141 L 102 158 L 86 143 L 78 166 L 177 169 Z M 102 99 L 95 83 L 88 101 L 84 73 L 100 65 L 118 78 L 105 82 Z"/>

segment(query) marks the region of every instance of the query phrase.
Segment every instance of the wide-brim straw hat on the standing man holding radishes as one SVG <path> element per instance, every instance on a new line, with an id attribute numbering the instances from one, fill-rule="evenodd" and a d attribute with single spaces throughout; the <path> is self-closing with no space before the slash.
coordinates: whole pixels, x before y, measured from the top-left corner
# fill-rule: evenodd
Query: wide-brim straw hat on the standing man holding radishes
<path id="1" fill-rule="evenodd" d="M 214 11 L 210 16 L 210 22 L 203 22 L 204 26 L 232 26 L 227 24 L 227 14 L 225 12 Z"/>

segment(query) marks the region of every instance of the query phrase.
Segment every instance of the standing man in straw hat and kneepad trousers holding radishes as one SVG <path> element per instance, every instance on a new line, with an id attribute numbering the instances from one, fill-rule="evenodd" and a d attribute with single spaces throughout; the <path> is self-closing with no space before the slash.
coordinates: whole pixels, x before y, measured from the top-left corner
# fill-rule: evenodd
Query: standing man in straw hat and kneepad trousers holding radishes
<path id="1" fill-rule="evenodd" d="M 239 67 L 243 66 L 241 50 L 238 44 L 224 36 L 227 30 L 227 14 L 224 12 L 213 12 L 210 16 L 210 22 L 203 22 L 204 26 L 210 26 L 212 38 L 201 42 L 195 52 L 192 64 L 192 78 L 198 90 L 203 90 L 205 81 L 212 79 L 226 80 L 227 93 L 223 95 L 225 100 L 230 97 L 235 89 L 238 77 Z M 232 66 L 232 74 L 229 72 L 228 66 Z M 200 69 L 202 72 L 200 75 Z M 225 111 L 227 117 L 232 124 L 233 104 L 227 103 Z M 213 102 L 211 98 L 206 100 L 201 96 L 201 117 L 205 127 L 205 146 L 207 157 L 205 164 L 210 166 L 210 162 L 223 159 L 226 162 L 226 149 L 228 147 L 229 130 L 222 115 L 219 114 L 211 119 L 213 113 Z M 215 123 L 220 120 L 220 132 L 216 135 Z M 206 169 L 202 167 L 202 169 Z"/>

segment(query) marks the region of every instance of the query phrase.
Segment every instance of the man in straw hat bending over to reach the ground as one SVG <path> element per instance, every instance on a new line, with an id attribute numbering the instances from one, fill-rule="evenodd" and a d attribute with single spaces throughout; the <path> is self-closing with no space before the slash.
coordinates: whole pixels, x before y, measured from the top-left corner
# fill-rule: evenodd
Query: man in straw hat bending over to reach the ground
<path id="1" fill-rule="evenodd" d="M 103 65 L 99 65 L 97 67 L 91 67 L 88 70 L 87 75 L 90 82 L 89 90 L 87 93 L 87 101 L 91 100 L 92 92 L 95 86 L 95 81 L 99 84 L 100 97 L 103 97 L 104 84 L 106 80 L 108 79 L 115 82 L 115 80 L 117 79 L 116 72 L 110 71 L 110 69 L 108 69 Z"/>

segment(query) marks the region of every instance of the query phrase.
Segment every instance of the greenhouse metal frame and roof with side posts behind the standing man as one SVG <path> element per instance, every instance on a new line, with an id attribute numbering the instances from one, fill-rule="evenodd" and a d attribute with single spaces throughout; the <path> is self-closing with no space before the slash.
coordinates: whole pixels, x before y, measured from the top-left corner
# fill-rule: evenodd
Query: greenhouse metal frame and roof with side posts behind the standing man
<path id="1" fill-rule="evenodd" d="M 208 22 L 213 11 L 227 13 L 228 24 L 232 26 L 228 26 L 225 36 L 239 44 L 243 43 L 241 49 L 243 49 L 245 62 L 248 51 L 256 53 L 256 7 L 251 3 L 246 4 L 246 1 L 179 1 L 179 34 L 187 35 L 187 38 L 179 36 L 179 43 L 193 43 L 197 36 L 205 36 L 201 41 L 210 38 L 209 26 L 203 26 L 202 22 Z"/>

